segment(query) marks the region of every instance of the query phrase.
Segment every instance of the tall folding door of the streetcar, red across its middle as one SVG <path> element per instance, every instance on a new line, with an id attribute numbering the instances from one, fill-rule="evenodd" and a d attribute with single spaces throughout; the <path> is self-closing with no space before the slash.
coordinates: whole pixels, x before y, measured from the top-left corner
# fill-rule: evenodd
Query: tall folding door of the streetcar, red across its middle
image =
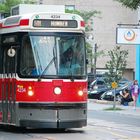
<path id="1" fill-rule="evenodd" d="M 16 100 L 16 63 L 17 53 L 15 46 L 3 47 L 2 68 L 2 121 L 15 122 Z"/>

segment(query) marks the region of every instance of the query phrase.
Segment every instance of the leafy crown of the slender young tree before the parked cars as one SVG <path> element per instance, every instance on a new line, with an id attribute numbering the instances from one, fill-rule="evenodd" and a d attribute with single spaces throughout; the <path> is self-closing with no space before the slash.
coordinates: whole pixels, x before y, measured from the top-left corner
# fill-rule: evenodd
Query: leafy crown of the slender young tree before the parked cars
<path id="1" fill-rule="evenodd" d="M 127 66 L 128 50 L 121 50 L 120 46 L 108 51 L 110 60 L 105 67 L 108 72 L 105 74 L 105 81 L 111 85 L 112 82 L 119 82 Z"/>

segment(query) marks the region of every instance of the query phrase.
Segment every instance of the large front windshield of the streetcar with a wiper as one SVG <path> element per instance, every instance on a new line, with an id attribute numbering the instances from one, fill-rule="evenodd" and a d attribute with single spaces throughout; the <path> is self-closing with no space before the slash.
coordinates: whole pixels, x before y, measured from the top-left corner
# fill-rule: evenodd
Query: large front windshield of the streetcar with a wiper
<path id="1" fill-rule="evenodd" d="M 41 77 L 83 76 L 85 60 L 82 34 L 31 34 L 23 37 L 20 73 Z"/>

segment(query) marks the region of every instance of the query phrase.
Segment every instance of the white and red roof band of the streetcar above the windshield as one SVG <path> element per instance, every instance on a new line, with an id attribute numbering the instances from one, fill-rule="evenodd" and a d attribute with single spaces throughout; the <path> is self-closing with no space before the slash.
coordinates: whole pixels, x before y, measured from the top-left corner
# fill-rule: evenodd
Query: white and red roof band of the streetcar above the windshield
<path id="1" fill-rule="evenodd" d="M 36 20 L 36 25 L 34 26 L 34 20 Z M 37 21 L 45 21 L 45 24 L 50 21 L 53 22 L 53 26 L 37 25 Z M 54 26 L 54 21 L 56 22 L 58 28 Z M 60 22 L 61 23 L 57 23 Z M 44 22 L 44 21 L 43 21 Z M 70 22 L 70 23 L 69 23 Z M 68 24 L 69 23 L 69 24 Z M 39 23 L 41 24 L 41 23 Z M 61 27 L 62 26 L 64 27 Z M 77 26 L 76 26 L 77 24 Z M 71 26 L 71 27 L 70 27 Z M 0 20 L 0 34 L 19 32 L 19 31 L 30 31 L 30 30 L 58 30 L 62 29 L 64 31 L 84 31 L 84 21 L 76 14 L 70 13 L 30 13 L 25 15 L 10 16 L 5 19 Z"/>

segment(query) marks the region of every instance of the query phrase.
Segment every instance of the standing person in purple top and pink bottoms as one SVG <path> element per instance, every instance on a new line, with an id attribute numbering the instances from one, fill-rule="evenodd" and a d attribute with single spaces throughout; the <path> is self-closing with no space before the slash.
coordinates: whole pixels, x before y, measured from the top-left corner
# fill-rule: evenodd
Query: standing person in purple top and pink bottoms
<path id="1" fill-rule="evenodd" d="M 131 86 L 131 94 L 132 94 L 132 99 L 134 103 L 134 109 L 136 109 L 136 102 L 138 99 L 139 92 L 140 92 L 140 87 L 138 85 L 138 81 L 134 80 L 133 85 Z"/>

